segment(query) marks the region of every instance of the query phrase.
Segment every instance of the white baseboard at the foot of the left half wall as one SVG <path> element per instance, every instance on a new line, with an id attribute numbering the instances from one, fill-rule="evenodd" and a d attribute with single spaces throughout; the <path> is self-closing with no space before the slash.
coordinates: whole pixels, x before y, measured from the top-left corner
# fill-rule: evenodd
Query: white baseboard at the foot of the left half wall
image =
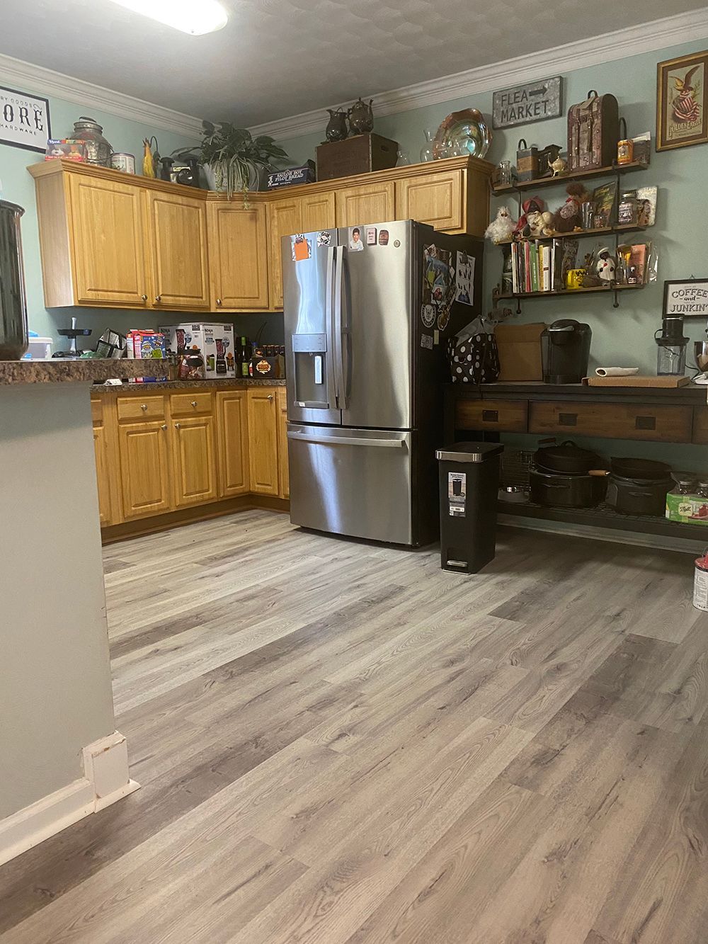
<path id="1" fill-rule="evenodd" d="M 115 731 L 83 749 L 84 776 L 0 820 L 0 866 L 137 790 L 126 738 Z"/>

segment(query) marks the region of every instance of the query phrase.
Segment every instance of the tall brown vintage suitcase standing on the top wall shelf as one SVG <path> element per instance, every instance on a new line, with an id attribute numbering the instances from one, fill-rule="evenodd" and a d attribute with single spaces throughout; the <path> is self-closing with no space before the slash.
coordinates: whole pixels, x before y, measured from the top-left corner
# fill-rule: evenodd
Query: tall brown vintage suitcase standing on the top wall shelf
<path id="1" fill-rule="evenodd" d="M 619 110 L 615 95 L 591 90 L 580 105 L 568 109 L 568 170 L 610 167 L 617 156 Z"/>

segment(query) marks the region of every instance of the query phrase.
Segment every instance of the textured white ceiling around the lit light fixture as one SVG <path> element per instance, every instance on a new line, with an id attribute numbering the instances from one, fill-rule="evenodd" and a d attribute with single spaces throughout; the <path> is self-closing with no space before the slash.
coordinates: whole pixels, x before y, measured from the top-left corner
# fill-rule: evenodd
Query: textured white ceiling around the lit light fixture
<path id="1" fill-rule="evenodd" d="M 615 4 L 601 16 L 587 0 L 222 2 L 228 25 L 188 36 L 110 0 L 2 0 L 0 53 L 251 126 L 705 6 L 644 0 L 641 13 Z"/>

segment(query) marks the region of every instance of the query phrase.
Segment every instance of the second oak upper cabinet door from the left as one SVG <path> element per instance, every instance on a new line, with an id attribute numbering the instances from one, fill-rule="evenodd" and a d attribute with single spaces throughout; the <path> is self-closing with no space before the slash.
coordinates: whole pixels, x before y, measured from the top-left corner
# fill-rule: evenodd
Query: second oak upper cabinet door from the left
<path id="1" fill-rule="evenodd" d="M 207 209 L 181 194 L 147 193 L 156 308 L 209 309 Z"/>

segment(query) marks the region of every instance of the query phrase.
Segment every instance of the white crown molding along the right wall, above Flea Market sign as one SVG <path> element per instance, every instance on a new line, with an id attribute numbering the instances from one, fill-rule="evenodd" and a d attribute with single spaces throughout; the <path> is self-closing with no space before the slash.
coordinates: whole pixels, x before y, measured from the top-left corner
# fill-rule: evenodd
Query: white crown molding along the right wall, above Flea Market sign
<path id="1" fill-rule="evenodd" d="M 519 82 L 532 82 L 537 78 L 545 78 L 550 73 L 557 75 L 574 72 L 586 66 L 626 59 L 639 53 L 666 49 L 668 46 L 705 37 L 708 37 L 708 9 L 691 10 L 651 23 L 628 26 L 612 33 L 566 42 L 554 49 L 478 66 L 452 76 L 416 82 L 415 85 L 395 89 L 393 92 L 374 95 L 374 105 L 377 115 L 410 111 L 455 98 L 464 98 L 466 95 L 493 92 Z M 332 107 L 346 109 L 352 101 Z M 304 111 L 290 118 L 280 118 L 251 127 L 250 131 L 253 134 L 269 134 L 280 140 L 312 134 L 323 129 L 323 111 L 324 108 Z"/>

